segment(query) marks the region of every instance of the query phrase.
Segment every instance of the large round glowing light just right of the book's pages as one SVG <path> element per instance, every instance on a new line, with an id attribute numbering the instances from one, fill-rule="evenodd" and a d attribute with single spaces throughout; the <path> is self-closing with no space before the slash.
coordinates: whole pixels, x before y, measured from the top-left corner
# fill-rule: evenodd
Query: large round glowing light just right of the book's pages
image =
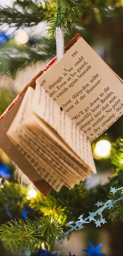
<path id="1" fill-rule="evenodd" d="M 94 155 L 97 157 L 108 158 L 110 156 L 110 149 L 111 144 L 108 140 L 100 140 L 96 143 Z"/>

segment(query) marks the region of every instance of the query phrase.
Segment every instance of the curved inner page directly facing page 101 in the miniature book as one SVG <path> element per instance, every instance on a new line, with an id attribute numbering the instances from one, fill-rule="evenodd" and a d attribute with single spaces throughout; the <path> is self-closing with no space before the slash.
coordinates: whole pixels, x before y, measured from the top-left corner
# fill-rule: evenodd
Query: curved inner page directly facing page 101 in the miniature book
<path id="1" fill-rule="evenodd" d="M 65 112 L 60 110 L 59 106 L 51 97 L 49 97 L 40 85 L 36 85 L 32 110 L 38 117 L 43 119 L 45 123 L 49 124 L 49 126 L 60 135 L 65 143 L 60 141 L 57 134 L 55 135 L 55 131 L 54 136 L 50 133 L 52 139 L 56 140 L 59 145 L 62 143 L 62 147 L 64 150 L 67 150 L 67 152 L 70 151 L 70 147 L 74 153 L 76 153 L 75 155 L 71 151 L 70 155 L 73 155 L 75 159 L 78 160 L 78 164 L 81 164 L 80 173 L 83 169 L 82 166 L 85 166 L 86 169 L 83 169 L 83 172 L 86 171 L 86 174 L 88 173 L 87 168 L 93 173 L 96 173 L 91 145 L 86 135 L 82 134 L 73 121 L 71 121 L 71 118 L 69 118 Z M 46 126 L 44 126 L 44 131 L 46 131 L 47 134 L 50 132 L 49 128 Z M 69 147 L 66 148 L 65 144 Z"/>

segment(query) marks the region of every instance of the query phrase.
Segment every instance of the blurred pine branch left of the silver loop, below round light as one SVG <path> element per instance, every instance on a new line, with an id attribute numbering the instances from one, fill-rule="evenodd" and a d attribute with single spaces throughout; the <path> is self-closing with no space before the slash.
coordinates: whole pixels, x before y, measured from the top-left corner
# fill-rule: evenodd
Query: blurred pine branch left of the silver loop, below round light
<path id="1" fill-rule="evenodd" d="M 14 78 L 20 68 L 25 69 L 38 61 L 46 62 L 52 59 L 56 49 L 55 43 L 44 37 L 35 38 L 36 42 L 34 44 L 33 42 L 30 44 L 30 40 L 27 45 L 16 45 L 14 39 L 11 39 L 3 45 L 2 49 L 0 49 L 1 74 L 6 74 L 10 71 Z M 34 38 L 32 38 L 32 41 L 34 41 Z"/>

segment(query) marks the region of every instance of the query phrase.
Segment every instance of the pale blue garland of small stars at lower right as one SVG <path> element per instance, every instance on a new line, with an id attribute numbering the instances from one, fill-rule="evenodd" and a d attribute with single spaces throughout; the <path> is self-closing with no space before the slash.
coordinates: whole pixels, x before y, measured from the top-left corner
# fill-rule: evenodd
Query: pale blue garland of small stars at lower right
<path id="1" fill-rule="evenodd" d="M 111 190 L 110 192 L 112 192 L 113 194 L 117 193 L 118 190 L 121 190 L 122 189 L 122 192 L 121 194 L 123 194 L 123 187 L 121 188 L 118 188 L 116 189 L 115 187 L 112 188 L 111 187 Z M 71 233 L 71 231 L 73 230 L 80 230 L 80 229 L 83 229 L 85 228 L 84 224 L 86 223 L 90 223 L 92 221 L 94 221 L 94 223 L 96 224 L 96 228 L 99 226 L 101 227 L 101 224 L 105 224 L 107 223 L 107 221 L 105 219 L 103 219 L 103 216 L 102 216 L 102 212 L 106 209 L 106 208 L 112 208 L 114 207 L 113 204 L 115 204 L 116 202 L 120 201 L 121 199 L 123 199 L 123 196 L 116 199 L 116 200 L 107 200 L 106 203 L 103 203 L 103 202 L 97 202 L 97 207 L 100 207 L 98 208 L 97 211 L 95 212 L 89 212 L 89 216 L 87 218 L 83 218 L 84 214 L 83 215 L 80 215 L 78 217 L 78 221 L 74 222 L 74 221 L 70 221 L 67 223 L 68 227 L 70 228 L 66 233 L 64 233 L 64 235 L 68 235 L 69 233 Z M 95 219 L 96 217 L 100 216 L 99 218 L 97 218 L 97 220 Z M 89 254 L 91 255 L 91 254 Z M 96 255 L 96 254 L 94 254 Z M 102 255 L 102 254 L 99 254 L 99 255 Z"/>

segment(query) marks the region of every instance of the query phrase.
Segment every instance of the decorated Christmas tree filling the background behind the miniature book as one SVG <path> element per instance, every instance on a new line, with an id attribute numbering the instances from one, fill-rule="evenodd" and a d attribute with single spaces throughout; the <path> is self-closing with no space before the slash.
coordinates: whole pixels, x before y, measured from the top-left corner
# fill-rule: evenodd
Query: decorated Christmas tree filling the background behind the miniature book
<path id="1" fill-rule="evenodd" d="M 122 1 L 113 0 L 55 0 L 43 3 L 16 0 L 11 7 L 1 6 L 0 75 L 1 85 L 7 84 L 7 86 L 0 88 L 0 114 L 15 98 L 15 81 L 17 81 L 19 72 L 20 76 L 25 69 L 28 72 L 28 66 L 30 66 L 30 70 L 33 70 L 34 65 L 38 62 L 44 65 L 56 54 L 55 23 L 59 7 L 61 19 L 58 16 L 57 25 L 59 26 L 62 22 L 65 44 L 76 33 L 81 34 L 114 72 L 123 78 L 122 5 Z M 44 36 L 39 36 L 41 22 L 48 25 L 45 28 L 47 34 Z M 10 33 L 12 27 L 13 32 Z M 20 30 L 25 31 L 27 36 L 29 35 L 27 41 L 19 43 Z M 35 34 L 34 31 L 36 31 Z M 107 173 L 109 169 L 112 173 L 106 183 L 92 186 L 89 189 L 87 182 L 81 182 L 70 191 L 66 187 L 63 187 L 59 193 L 52 189 L 48 197 L 45 198 L 33 187 L 25 187 L 21 181 L 18 184 L 14 175 L 14 164 L 0 151 L 0 238 L 5 251 L 9 250 L 12 254 L 19 255 L 46 255 L 46 251 L 44 251 L 46 249 L 49 251 L 47 255 L 50 253 L 57 255 L 58 252 L 53 253 L 53 251 L 59 248 L 58 244 L 61 239 L 65 240 L 64 237 L 71 237 L 71 229 L 78 230 L 79 227 L 82 229 L 84 223 L 88 241 L 91 240 L 96 246 L 98 235 L 101 236 L 106 230 L 111 236 L 109 255 L 117 253 L 117 255 L 122 255 L 120 242 L 119 250 L 118 246 L 114 245 L 114 241 L 115 243 L 119 241 L 118 232 L 121 234 L 123 219 L 123 194 L 122 189 L 119 189 L 123 186 L 122 122 L 123 117 L 121 116 L 115 124 L 92 143 L 99 174 Z M 99 153 L 99 144 L 97 143 L 104 139 L 111 143 L 111 150 L 109 147 L 107 153 L 102 151 Z M 102 148 L 102 144 L 100 145 Z M 102 209 L 102 211 L 104 210 L 103 216 L 96 216 L 97 207 L 101 208 L 107 200 L 110 201 L 106 204 L 105 209 Z M 86 218 L 91 223 L 87 224 L 88 219 Z M 96 225 L 92 219 L 95 220 Z M 96 226 L 97 230 L 101 226 L 100 231 L 96 230 Z M 104 228 L 105 226 L 106 228 Z M 80 236 L 80 231 L 76 232 Z M 100 240 L 98 241 L 100 243 Z M 74 246 L 77 245 L 74 244 Z M 90 248 L 92 249 L 91 245 Z M 67 255 L 69 251 L 71 248 L 68 248 Z M 106 253 L 106 249 L 103 251 Z M 74 254 L 75 251 L 72 249 L 71 253 Z M 6 254 L 0 252 L 0 255 Z"/>

